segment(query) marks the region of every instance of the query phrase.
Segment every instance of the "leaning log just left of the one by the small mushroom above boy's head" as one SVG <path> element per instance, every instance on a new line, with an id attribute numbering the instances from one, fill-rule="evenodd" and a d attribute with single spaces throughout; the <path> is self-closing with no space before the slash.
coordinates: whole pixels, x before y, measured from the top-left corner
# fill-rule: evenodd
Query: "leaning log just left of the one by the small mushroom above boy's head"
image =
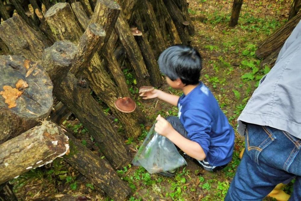
<path id="1" fill-rule="evenodd" d="M 166 28 L 169 32 L 169 37 L 171 38 L 171 44 L 174 45 L 182 43 L 178 31 L 175 28 L 175 24 L 173 23 L 163 0 L 154 0 L 152 1 L 152 4 L 154 9 L 157 11 L 157 16 L 159 15 L 158 17 L 164 18 Z"/>

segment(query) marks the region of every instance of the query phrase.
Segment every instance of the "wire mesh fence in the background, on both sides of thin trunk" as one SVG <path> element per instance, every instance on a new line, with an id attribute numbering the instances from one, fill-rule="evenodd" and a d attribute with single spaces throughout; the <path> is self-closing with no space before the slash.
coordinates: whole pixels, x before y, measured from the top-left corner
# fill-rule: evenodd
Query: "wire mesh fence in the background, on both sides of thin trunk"
<path id="1" fill-rule="evenodd" d="M 187 0 L 191 17 L 201 17 L 228 21 L 231 16 L 233 0 Z M 254 23 L 258 27 L 275 26 L 288 18 L 292 0 L 245 0 L 243 1 L 239 24 Z"/>

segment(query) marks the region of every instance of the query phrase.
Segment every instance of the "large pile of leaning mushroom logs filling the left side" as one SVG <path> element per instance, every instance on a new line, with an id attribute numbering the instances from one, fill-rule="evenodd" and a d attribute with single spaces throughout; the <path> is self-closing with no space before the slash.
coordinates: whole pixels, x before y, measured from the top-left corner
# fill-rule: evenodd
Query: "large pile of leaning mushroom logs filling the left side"
<path id="1" fill-rule="evenodd" d="M 123 141 L 137 138 L 146 118 L 138 106 L 131 113 L 115 107 L 119 97 L 133 98 L 123 68 L 131 69 L 137 87 L 160 86 L 159 54 L 170 45 L 190 43 L 194 34 L 188 4 L 55 2 L 0 0 L 0 48 L 6 55 L 0 56 L 0 175 L 5 175 L 0 184 L 9 192 L 5 182 L 51 162 L 70 146 L 66 162 L 114 200 L 124 200 L 131 190 L 115 170 L 130 163 Z M 122 123 L 125 136 L 117 133 L 92 91 Z M 54 108 L 53 96 L 59 101 Z M 106 160 L 59 126 L 71 113 Z"/>

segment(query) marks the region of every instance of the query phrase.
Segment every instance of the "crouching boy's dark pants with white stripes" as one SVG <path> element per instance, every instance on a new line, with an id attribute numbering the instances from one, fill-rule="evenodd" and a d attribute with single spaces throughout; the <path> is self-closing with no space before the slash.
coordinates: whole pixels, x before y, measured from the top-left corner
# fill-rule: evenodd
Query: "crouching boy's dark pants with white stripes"
<path id="1" fill-rule="evenodd" d="M 188 138 L 188 132 L 185 130 L 183 124 L 181 123 L 180 119 L 178 117 L 175 116 L 168 116 L 166 117 L 166 120 L 172 125 L 172 127 L 178 132 L 180 133 L 183 137 L 187 138 L 188 140 L 190 140 Z M 178 148 L 178 147 L 177 147 Z M 185 154 L 185 153 L 184 153 Z M 186 155 L 186 154 L 185 154 Z M 207 161 L 207 159 L 204 159 L 202 161 L 199 161 L 197 159 L 193 159 L 190 156 L 187 156 L 186 158 L 190 158 L 191 160 L 193 160 L 194 162 L 197 163 L 197 165 L 201 166 L 202 168 L 204 168 L 207 171 L 219 171 L 222 170 L 223 168 L 225 168 L 227 166 L 223 165 L 223 166 L 213 166 L 210 165 L 209 162 Z"/>

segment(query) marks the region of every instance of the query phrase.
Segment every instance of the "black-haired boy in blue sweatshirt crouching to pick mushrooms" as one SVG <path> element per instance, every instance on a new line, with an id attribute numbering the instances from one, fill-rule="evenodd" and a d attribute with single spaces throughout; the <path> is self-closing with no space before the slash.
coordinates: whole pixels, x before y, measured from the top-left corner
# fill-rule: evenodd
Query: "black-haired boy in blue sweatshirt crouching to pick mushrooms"
<path id="1" fill-rule="evenodd" d="M 208 171 L 224 168 L 232 158 L 234 131 L 210 90 L 199 82 L 201 56 L 190 46 L 175 45 L 158 60 L 166 82 L 183 91 L 181 97 L 154 89 L 143 99 L 159 98 L 178 106 L 178 118 L 160 115 L 155 131 L 167 137 L 194 162 Z M 163 173 L 172 176 L 174 172 Z"/>

